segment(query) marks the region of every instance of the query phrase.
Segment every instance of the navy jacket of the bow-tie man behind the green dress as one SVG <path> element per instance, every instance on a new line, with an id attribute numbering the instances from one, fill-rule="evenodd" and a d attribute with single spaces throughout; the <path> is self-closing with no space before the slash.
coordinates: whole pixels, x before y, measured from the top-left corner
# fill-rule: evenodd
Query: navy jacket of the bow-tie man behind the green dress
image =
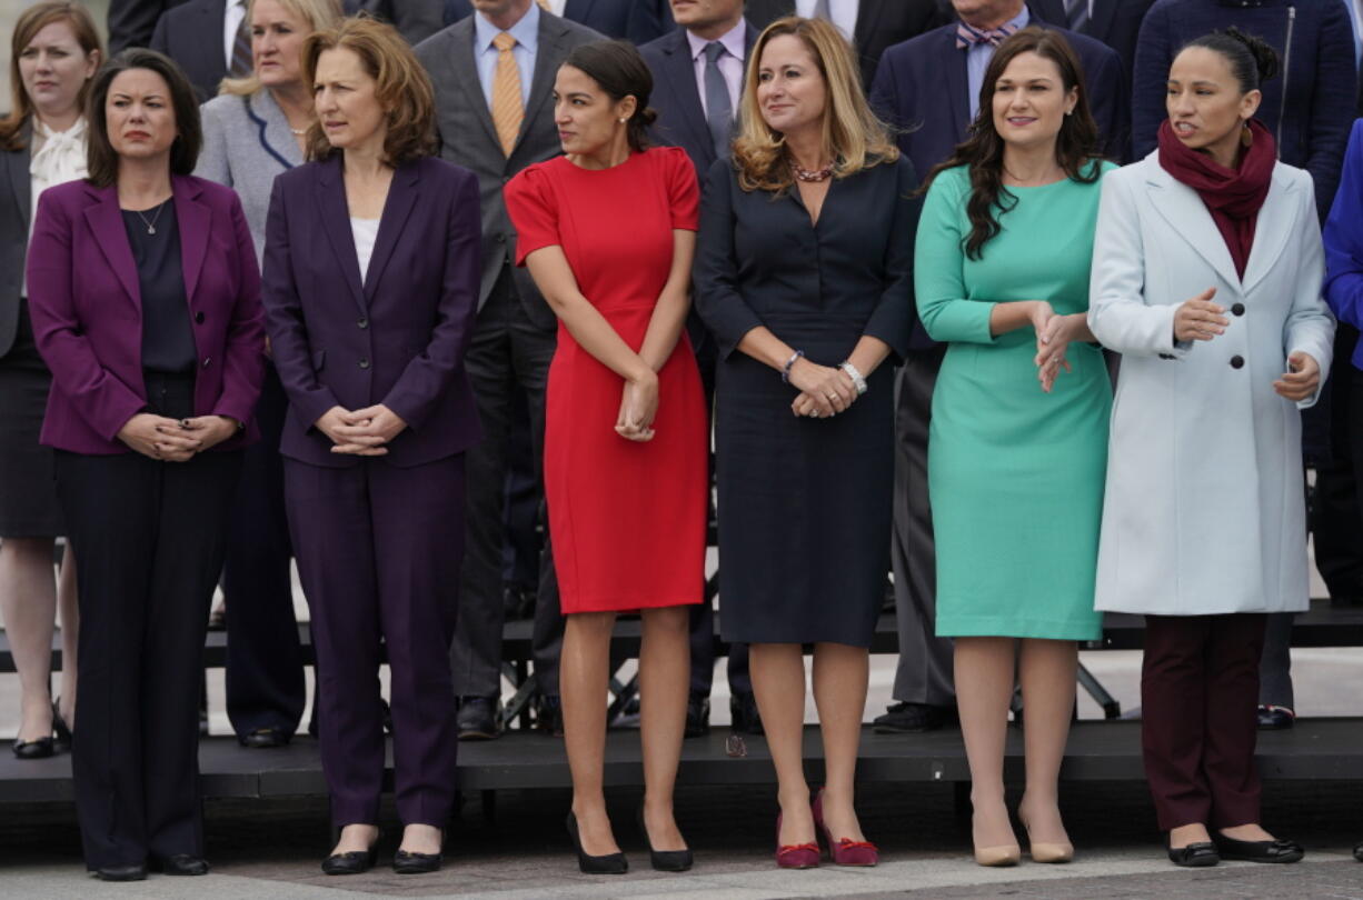
<path id="1" fill-rule="evenodd" d="M 1089 109 L 1097 121 L 1103 148 L 1114 159 L 1122 159 L 1129 121 L 1122 60 L 1115 50 L 1093 38 L 1039 19 L 1033 11 L 1032 25 L 1062 31 L 1078 53 L 1089 87 Z M 900 150 L 913 161 L 913 170 L 920 178 L 950 158 L 951 150 L 965 140 L 970 124 L 965 50 L 955 46 L 955 25 L 942 26 L 886 50 L 871 84 L 871 106 L 901 129 Z"/>

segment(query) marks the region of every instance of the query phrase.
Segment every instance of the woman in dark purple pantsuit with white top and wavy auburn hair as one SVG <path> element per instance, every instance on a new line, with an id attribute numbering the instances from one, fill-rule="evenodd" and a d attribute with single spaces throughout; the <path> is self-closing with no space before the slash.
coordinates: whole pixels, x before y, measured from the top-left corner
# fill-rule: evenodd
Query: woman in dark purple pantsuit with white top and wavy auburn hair
<path id="1" fill-rule="evenodd" d="M 318 654 L 327 874 L 375 862 L 380 639 L 391 671 L 393 866 L 440 866 L 454 803 L 450 684 L 463 451 L 480 438 L 463 353 L 477 310 L 478 189 L 435 148 L 431 82 L 397 31 L 352 19 L 303 49 L 312 162 L 274 182 L 264 304 L 289 396 L 285 507 Z"/>

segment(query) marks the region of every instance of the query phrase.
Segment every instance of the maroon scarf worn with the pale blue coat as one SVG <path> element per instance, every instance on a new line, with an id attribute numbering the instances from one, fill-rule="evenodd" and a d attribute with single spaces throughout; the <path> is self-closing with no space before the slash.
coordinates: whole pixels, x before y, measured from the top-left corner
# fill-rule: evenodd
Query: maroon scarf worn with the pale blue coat
<path id="1" fill-rule="evenodd" d="M 1251 118 L 1250 132 L 1254 140 L 1240 152 L 1239 169 L 1227 169 L 1205 152 L 1186 147 L 1174 133 L 1168 118 L 1160 124 L 1160 165 L 1202 197 L 1212 221 L 1225 238 L 1240 278 L 1244 278 L 1244 264 L 1254 246 L 1254 225 L 1259 218 L 1259 207 L 1269 195 L 1273 163 L 1277 162 L 1269 129 Z"/>

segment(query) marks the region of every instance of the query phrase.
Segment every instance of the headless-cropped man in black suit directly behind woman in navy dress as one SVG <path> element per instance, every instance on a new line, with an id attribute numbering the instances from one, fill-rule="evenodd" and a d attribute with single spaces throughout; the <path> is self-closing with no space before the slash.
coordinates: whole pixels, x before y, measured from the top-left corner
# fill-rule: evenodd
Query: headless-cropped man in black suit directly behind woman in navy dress
<path id="1" fill-rule="evenodd" d="M 870 87 L 880 54 L 901 41 L 946 22 L 936 0 L 748 0 L 744 15 L 758 31 L 781 16 L 812 16 L 821 4 L 852 39 L 861 60 L 861 84 Z"/>

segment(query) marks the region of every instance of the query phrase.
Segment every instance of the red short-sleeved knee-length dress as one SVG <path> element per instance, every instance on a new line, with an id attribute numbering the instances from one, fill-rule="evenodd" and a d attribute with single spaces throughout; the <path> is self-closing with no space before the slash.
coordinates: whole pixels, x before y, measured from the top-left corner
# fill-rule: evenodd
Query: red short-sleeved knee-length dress
<path id="1" fill-rule="evenodd" d="M 695 169 L 657 147 L 612 169 L 566 157 L 507 184 L 517 264 L 563 248 L 582 294 L 634 350 L 672 268 L 673 229 L 696 229 Z M 654 437 L 615 432 L 624 381 L 559 323 L 549 366 L 544 493 L 564 613 L 699 603 L 705 591 L 707 417 L 686 332 L 658 372 Z"/>

